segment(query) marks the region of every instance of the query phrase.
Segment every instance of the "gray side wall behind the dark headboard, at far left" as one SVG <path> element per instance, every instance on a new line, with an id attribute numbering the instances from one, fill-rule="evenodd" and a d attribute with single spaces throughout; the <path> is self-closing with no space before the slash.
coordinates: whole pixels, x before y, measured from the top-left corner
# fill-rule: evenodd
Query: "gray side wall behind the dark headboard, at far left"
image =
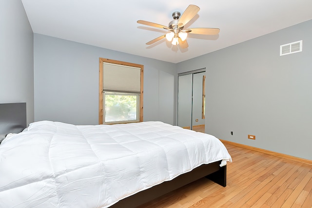
<path id="1" fill-rule="evenodd" d="M 20 0 L 0 1 L 0 103 L 26 102 L 34 121 L 33 31 Z"/>

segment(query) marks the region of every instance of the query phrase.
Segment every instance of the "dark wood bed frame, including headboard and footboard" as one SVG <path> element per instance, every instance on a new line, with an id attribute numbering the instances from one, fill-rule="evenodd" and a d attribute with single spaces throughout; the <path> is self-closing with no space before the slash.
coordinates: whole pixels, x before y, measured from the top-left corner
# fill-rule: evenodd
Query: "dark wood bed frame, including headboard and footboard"
<path id="1" fill-rule="evenodd" d="M 0 104 L 0 142 L 7 133 L 19 133 L 26 128 L 26 103 Z M 120 200 L 111 208 L 135 208 L 166 193 L 181 188 L 200 178 L 207 177 L 215 183 L 226 186 L 226 166 L 220 168 L 221 161 L 201 165 L 171 181 L 163 182 L 150 189 L 140 191 Z"/>

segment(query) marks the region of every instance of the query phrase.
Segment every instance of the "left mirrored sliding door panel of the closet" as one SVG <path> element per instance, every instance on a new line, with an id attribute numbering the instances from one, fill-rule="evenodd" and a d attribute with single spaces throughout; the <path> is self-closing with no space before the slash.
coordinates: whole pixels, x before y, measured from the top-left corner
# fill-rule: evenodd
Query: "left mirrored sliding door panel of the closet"
<path id="1" fill-rule="evenodd" d="M 192 127 L 192 94 L 193 74 L 178 76 L 177 125 L 183 128 Z"/>

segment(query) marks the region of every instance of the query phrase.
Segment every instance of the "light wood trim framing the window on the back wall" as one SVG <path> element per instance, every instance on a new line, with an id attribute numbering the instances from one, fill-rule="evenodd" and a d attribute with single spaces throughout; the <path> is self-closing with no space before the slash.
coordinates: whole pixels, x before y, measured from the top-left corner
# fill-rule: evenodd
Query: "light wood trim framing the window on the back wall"
<path id="1" fill-rule="evenodd" d="M 135 63 L 129 63 L 124 61 L 117 61 L 107 58 L 99 58 L 99 84 L 98 84 L 98 124 L 103 124 L 103 63 L 114 63 L 114 64 L 120 64 L 125 66 L 133 66 L 141 68 L 141 90 L 140 90 L 140 106 L 139 106 L 139 122 L 143 121 L 143 72 L 144 72 L 144 66 L 140 64 Z"/>

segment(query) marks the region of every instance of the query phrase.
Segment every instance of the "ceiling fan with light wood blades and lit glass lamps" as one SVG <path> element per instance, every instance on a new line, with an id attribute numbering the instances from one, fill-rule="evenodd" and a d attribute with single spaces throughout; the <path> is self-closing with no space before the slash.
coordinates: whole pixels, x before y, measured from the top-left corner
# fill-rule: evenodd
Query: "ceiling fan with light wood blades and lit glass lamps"
<path id="1" fill-rule="evenodd" d="M 184 25 L 186 25 L 191 19 L 195 17 L 195 15 L 198 13 L 199 7 L 196 5 L 189 5 L 184 13 L 180 14 L 180 12 L 174 12 L 172 13 L 172 17 L 174 20 L 169 22 L 168 27 L 157 24 L 154 22 L 149 22 L 145 20 L 138 20 L 137 23 L 139 24 L 145 24 L 153 27 L 163 28 L 166 30 L 169 30 L 170 32 L 159 36 L 158 38 L 155 38 L 149 42 L 146 43 L 146 45 L 151 45 L 163 38 L 166 38 L 168 41 L 172 41 L 173 45 L 180 44 L 181 48 L 187 48 L 189 45 L 186 41 L 187 34 L 199 34 L 199 35 L 217 35 L 220 32 L 219 28 L 184 28 Z"/>

